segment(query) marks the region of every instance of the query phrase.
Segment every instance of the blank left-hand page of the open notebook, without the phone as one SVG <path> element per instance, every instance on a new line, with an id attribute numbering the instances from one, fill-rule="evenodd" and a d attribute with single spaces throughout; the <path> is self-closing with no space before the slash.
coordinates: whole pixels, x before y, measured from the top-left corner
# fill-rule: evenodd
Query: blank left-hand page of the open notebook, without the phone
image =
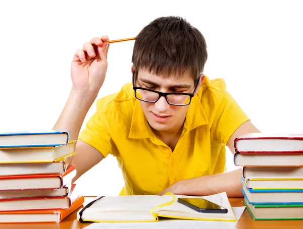
<path id="1" fill-rule="evenodd" d="M 82 219 L 89 221 L 155 221 L 156 217 L 150 213 L 150 209 L 173 199 L 171 195 L 105 196 L 86 208 L 82 213 Z"/>

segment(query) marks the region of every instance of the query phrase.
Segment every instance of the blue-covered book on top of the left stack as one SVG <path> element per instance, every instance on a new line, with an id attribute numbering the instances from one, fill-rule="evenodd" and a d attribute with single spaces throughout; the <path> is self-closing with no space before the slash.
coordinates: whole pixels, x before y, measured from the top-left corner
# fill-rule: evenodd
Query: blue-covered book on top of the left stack
<path id="1" fill-rule="evenodd" d="M 68 131 L 0 133 L 0 148 L 61 146 L 68 142 Z"/>

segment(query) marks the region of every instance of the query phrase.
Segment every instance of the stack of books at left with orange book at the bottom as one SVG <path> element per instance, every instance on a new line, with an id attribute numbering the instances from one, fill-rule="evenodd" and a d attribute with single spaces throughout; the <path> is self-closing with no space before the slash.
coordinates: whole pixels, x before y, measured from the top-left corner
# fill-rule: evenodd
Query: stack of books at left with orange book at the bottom
<path id="1" fill-rule="evenodd" d="M 65 131 L 0 134 L 0 222 L 60 222 L 79 208 L 74 154 Z"/>

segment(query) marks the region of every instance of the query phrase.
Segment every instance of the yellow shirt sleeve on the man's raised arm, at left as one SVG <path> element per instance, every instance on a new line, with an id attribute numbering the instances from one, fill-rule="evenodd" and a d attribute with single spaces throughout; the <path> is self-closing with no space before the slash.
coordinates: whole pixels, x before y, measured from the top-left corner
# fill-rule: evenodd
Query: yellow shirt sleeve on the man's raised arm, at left
<path id="1" fill-rule="evenodd" d="M 114 143 L 110 134 L 109 112 L 106 112 L 100 104 L 102 101 L 98 100 L 96 112 L 90 117 L 78 139 L 91 145 L 104 157 L 107 157 L 109 153 L 112 153 Z"/>

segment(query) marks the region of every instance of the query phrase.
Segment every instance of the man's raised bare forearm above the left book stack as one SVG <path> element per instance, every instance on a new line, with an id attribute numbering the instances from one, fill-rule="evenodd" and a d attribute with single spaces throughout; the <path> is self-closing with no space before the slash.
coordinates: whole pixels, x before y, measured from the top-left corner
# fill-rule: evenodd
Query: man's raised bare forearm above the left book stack
<path id="1" fill-rule="evenodd" d="M 94 97 L 87 98 L 84 93 L 72 89 L 53 130 L 70 130 L 70 141 L 77 140 L 84 118 L 93 101 Z"/>

